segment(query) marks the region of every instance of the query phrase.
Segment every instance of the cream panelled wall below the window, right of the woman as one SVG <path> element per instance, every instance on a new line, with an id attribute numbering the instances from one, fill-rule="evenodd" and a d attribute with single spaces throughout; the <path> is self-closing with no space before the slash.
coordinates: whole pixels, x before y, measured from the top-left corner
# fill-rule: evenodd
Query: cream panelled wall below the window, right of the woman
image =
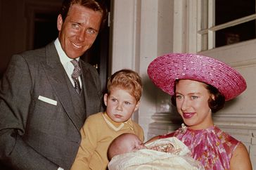
<path id="1" fill-rule="evenodd" d="M 214 115 L 214 119 L 217 126 L 246 145 L 254 167 L 256 167 L 256 80 L 252 77 L 256 72 L 255 44 L 254 39 L 202 52 L 229 63 L 245 78 L 247 89 L 234 100 L 228 101 L 224 109 Z"/>

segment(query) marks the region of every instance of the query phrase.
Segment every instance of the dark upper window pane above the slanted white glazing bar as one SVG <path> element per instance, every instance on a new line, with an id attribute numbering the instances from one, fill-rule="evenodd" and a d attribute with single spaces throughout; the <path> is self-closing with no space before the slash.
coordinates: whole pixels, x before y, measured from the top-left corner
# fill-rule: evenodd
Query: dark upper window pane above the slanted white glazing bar
<path id="1" fill-rule="evenodd" d="M 255 13 L 255 0 L 215 0 L 215 25 Z"/>

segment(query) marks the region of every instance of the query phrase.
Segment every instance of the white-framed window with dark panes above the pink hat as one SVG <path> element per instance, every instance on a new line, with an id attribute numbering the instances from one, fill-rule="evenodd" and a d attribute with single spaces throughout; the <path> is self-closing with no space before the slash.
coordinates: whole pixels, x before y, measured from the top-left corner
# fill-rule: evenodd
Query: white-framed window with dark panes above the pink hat
<path id="1" fill-rule="evenodd" d="M 255 39 L 255 0 L 198 0 L 198 8 L 198 51 Z"/>

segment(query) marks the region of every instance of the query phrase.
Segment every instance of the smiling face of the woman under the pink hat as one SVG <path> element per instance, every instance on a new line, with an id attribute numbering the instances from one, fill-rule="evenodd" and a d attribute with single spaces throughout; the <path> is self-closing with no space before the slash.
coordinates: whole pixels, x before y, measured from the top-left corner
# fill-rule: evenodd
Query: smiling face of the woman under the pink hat
<path id="1" fill-rule="evenodd" d="M 181 79 L 176 84 L 176 103 L 179 115 L 191 129 L 206 129 L 213 126 L 212 112 L 208 105 L 211 96 L 206 84 L 190 79 Z"/>

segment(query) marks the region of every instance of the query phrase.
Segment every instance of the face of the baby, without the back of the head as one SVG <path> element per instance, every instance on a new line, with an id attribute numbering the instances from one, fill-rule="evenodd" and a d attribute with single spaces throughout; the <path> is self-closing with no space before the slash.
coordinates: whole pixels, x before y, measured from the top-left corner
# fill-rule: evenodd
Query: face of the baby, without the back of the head
<path id="1" fill-rule="evenodd" d="M 124 140 L 124 152 L 132 152 L 135 150 L 145 149 L 144 143 L 139 140 L 137 136 L 129 136 L 127 140 Z"/>

